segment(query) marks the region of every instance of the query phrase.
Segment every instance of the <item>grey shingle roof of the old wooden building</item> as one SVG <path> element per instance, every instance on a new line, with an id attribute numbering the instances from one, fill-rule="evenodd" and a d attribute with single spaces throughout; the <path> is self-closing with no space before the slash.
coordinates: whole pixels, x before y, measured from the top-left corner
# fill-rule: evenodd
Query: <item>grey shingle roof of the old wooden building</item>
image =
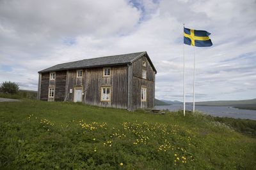
<path id="1" fill-rule="evenodd" d="M 111 55 L 111 56 L 99 57 L 99 58 L 93 58 L 93 59 L 77 60 L 74 62 L 57 64 L 47 69 L 43 69 L 38 73 L 44 73 L 49 71 L 60 71 L 60 70 L 66 70 L 66 69 L 77 69 L 77 68 L 84 68 L 84 67 L 99 67 L 99 66 L 130 64 L 132 61 L 138 59 L 144 54 L 147 54 L 147 52 L 126 53 L 122 55 Z M 150 61 L 150 64 L 152 64 L 151 61 Z M 152 64 L 152 67 L 156 71 L 153 64 Z"/>

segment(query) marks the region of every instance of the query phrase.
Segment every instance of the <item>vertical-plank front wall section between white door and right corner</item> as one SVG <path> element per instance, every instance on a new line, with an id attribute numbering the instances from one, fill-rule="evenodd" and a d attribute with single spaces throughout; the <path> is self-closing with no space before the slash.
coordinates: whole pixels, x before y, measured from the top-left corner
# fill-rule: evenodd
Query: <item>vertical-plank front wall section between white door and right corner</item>
<path id="1" fill-rule="evenodd" d="M 103 77 L 102 67 L 86 69 L 85 101 L 103 107 L 127 108 L 127 66 L 111 67 L 111 75 Z M 100 101 L 102 86 L 111 86 L 111 101 Z"/>

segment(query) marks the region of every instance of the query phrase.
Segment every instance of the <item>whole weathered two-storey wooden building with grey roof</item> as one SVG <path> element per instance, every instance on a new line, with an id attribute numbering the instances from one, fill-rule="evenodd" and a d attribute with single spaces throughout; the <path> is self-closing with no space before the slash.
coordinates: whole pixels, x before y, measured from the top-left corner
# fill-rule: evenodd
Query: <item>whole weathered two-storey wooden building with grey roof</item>
<path id="1" fill-rule="evenodd" d="M 153 108 L 156 73 L 147 52 L 67 62 L 38 72 L 38 99 Z"/>

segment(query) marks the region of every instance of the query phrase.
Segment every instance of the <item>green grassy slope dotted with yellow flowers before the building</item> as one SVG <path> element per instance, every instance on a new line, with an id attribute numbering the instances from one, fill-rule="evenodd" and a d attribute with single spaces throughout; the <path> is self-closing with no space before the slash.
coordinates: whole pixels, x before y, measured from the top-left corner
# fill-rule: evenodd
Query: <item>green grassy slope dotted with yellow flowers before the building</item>
<path id="1" fill-rule="evenodd" d="M 256 138 L 214 118 L 0 103 L 0 169 L 256 169 Z"/>

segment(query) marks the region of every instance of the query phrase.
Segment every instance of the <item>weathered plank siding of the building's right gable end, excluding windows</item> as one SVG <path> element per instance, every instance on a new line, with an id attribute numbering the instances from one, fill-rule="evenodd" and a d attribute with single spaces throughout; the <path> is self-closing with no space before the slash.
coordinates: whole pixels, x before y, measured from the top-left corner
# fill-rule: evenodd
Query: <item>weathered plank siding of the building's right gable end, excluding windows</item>
<path id="1" fill-rule="evenodd" d="M 146 67 L 142 66 L 143 61 Z M 147 71 L 147 78 L 142 78 L 142 70 Z M 147 57 L 143 56 L 132 63 L 132 109 L 154 107 L 154 81 L 155 72 L 152 69 Z M 147 88 L 147 101 L 141 101 L 141 87 Z"/>

